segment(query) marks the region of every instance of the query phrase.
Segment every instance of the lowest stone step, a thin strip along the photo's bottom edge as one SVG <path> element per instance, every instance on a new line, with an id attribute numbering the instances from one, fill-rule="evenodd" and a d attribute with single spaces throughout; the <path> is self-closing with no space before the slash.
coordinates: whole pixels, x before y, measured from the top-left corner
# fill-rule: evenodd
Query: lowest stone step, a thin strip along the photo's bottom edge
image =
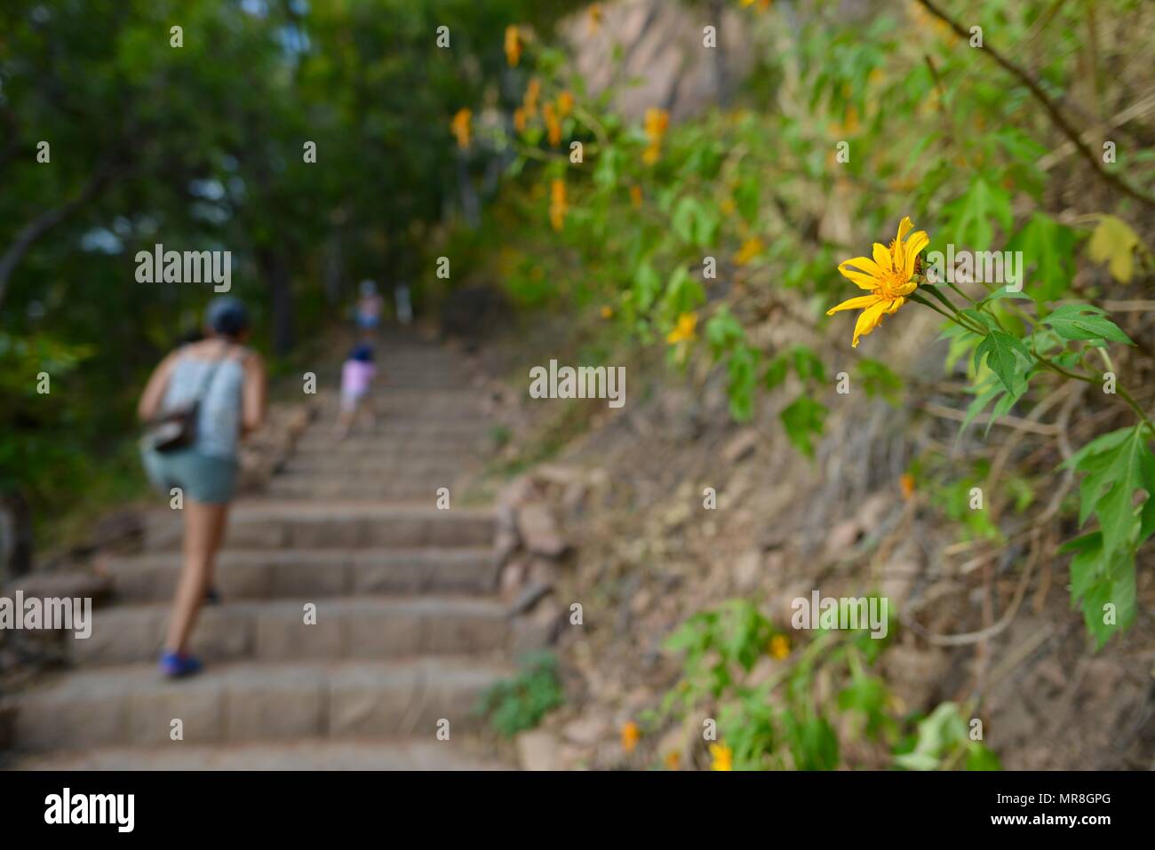
<path id="1" fill-rule="evenodd" d="M 452 737 L 447 741 L 329 740 L 222 746 L 169 741 L 154 747 L 98 747 L 81 753 L 17 758 L 16 770 L 507 770 L 478 758 Z"/>

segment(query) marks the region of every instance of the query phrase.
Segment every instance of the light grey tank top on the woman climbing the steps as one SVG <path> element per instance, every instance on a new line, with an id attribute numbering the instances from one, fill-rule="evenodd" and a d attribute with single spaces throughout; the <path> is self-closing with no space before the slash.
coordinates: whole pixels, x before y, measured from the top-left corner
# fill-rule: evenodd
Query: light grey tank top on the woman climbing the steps
<path id="1" fill-rule="evenodd" d="M 215 372 L 209 376 L 211 370 Z M 171 410 L 188 404 L 199 395 L 196 440 L 192 448 L 215 457 L 236 457 L 244 382 L 245 367 L 236 357 L 204 360 L 185 355 L 169 375 L 163 407 Z"/>

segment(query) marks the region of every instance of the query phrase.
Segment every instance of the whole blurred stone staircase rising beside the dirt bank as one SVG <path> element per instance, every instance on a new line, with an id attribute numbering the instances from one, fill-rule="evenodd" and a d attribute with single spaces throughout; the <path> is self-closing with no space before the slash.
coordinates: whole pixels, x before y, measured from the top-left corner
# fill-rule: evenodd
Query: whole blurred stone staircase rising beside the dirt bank
<path id="1" fill-rule="evenodd" d="M 116 604 L 94 612 L 90 639 L 66 639 L 73 669 L 15 698 L 17 767 L 500 767 L 463 743 L 514 640 L 494 516 L 456 504 L 485 438 L 480 396 L 437 345 L 390 338 L 378 364 L 375 426 L 334 443 L 336 395 L 322 396 L 268 492 L 234 506 L 223 602 L 193 639 L 206 670 L 156 671 L 180 566 L 180 517 L 164 510 L 141 554 L 107 565 Z"/>

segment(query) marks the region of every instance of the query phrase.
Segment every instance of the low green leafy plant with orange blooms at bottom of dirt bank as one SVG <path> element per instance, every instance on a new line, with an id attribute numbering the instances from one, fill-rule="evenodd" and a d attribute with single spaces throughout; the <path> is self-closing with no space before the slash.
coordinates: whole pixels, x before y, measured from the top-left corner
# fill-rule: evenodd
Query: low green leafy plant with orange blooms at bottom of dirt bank
<path id="1" fill-rule="evenodd" d="M 922 722 L 895 714 L 873 671 L 887 640 L 817 631 L 808 643 L 791 646 L 799 640 L 792 635 L 747 599 L 692 616 L 665 643 L 683 656 L 681 680 L 646 722 L 716 713 L 718 744 L 732 752 L 736 770 L 834 770 L 843 766 L 845 745 L 863 743 L 884 762 L 894 753 L 895 767 L 998 769 L 993 753 L 968 740 L 957 707 L 944 703 Z"/>

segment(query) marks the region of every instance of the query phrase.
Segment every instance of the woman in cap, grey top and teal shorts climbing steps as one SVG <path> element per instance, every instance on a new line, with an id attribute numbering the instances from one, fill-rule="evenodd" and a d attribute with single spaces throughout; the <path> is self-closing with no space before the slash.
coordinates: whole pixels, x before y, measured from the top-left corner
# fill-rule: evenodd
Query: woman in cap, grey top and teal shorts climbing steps
<path id="1" fill-rule="evenodd" d="M 161 656 L 165 676 L 200 670 L 188 638 L 206 597 L 237 489 L 238 443 L 264 420 L 268 379 L 261 357 L 244 345 L 248 312 L 236 298 L 215 298 L 204 338 L 179 346 L 154 370 L 137 413 L 148 423 L 142 457 L 166 497 L 180 489 L 184 559 Z"/>

